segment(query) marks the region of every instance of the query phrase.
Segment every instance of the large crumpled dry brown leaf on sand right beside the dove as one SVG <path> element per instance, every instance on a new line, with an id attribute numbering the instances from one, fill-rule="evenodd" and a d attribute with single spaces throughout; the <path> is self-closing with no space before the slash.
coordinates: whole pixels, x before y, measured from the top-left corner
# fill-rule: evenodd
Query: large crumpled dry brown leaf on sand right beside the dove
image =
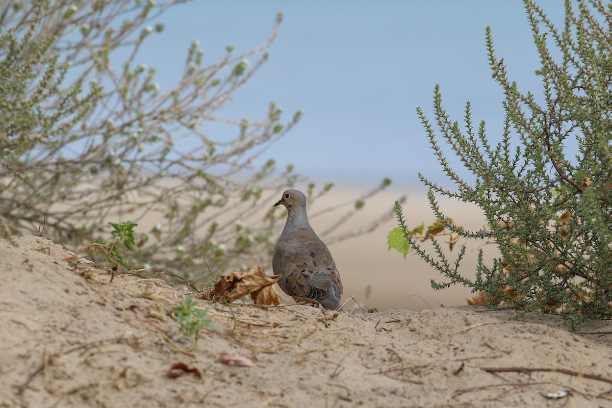
<path id="1" fill-rule="evenodd" d="M 280 295 L 273 285 L 279 279 L 280 275 L 268 276 L 258 266 L 248 272 L 232 272 L 230 276 L 221 276 L 215 284 L 214 294 L 225 297 L 228 302 L 251 295 L 256 305 L 278 305 Z"/>

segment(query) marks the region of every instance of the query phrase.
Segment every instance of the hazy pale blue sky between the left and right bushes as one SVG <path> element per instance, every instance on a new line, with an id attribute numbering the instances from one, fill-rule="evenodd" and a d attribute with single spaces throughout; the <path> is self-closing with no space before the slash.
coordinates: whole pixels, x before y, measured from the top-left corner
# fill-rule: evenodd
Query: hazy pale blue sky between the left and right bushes
<path id="1" fill-rule="evenodd" d="M 561 1 L 538 4 L 562 23 Z M 469 100 L 474 120 L 485 119 L 488 134 L 499 135 L 502 92 L 488 67 L 486 26 L 520 89 L 540 92 L 538 56 L 520 1 L 197 0 L 163 15 L 165 32 L 149 41 L 138 62 L 157 67 L 163 91 L 181 75 L 192 40 L 200 41 L 203 64 L 210 64 L 228 44 L 240 53 L 266 42 L 278 11 L 285 18 L 269 61 L 234 94 L 225 114 L 261 118 L 272 100 L 286 119 L 304 109 L 302 121 L 266 158 L 283 167 L 293 163 L 319 182 L 371 184 L 389 176 L 414 187 L 419 171 L 446 180 L 416 114 L 421 106 L 435 119 L 436 83 L 453 119 L 461 120 Z"/>

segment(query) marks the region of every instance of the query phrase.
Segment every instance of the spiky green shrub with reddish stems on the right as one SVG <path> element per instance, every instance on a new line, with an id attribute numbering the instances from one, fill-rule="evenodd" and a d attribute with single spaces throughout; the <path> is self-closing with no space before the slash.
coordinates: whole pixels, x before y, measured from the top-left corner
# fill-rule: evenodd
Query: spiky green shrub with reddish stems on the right
<path id="1" fill-rule="evenodd" d="M 485 122 L 474 124 L 469 103 L 463 125 L 452 121 L 438 86 L 437 132 L 418 109 L 431 147 L 456 186 L 445 190 L 419 175 L 435 216 L 460 237 L 493 240 L 501 258 L 485 265 L 481 250 L 476 278 L 466 278 L 434 236 L 432 257 L 397 214 L 414 250 L 446 276 L 444 283 L 432 283 L 435 289 L 463 284 L 483 291 L 489 307 L 560 313 L 573 329 L 584 319 L 612 317 L 612 6 L 580 0 L 574 9 L 566 1 L 564 27 L 558 29 L 534 2 L 524 4 L 543 92 L 525 94 L 510 81 L 487 28 L 493 78 L 505 94 L 498 143 L 485 132 Z M 438 135 L 474 175 L 473 184 L 450 168 Z M 576 143 L 577 151 L 569 147 Z M 476 204 L 489 227 L 458 228 L 439 208 L 438 196 Z"/>

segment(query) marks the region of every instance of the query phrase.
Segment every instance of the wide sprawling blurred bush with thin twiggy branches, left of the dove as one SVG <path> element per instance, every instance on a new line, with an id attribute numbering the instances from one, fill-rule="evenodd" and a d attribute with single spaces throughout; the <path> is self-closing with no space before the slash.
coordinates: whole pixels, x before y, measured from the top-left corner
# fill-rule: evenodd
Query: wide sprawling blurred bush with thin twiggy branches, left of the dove
<path id="1" fill-rule="evenodd" d="M 199 279 L 207 262 L 218 271 L 269 263 L 284 220 L 261 209 L 304 177 L 261 155 L 302 111 L 285 119 L 271 102 L 247 119 L 220 110 L 267 61 L 282 14 L 263 45 L 228 45 L 220 61 L 194 40 L 176 83 L 162 87 L 139 51 L 163 32 L 163 12 L 184 2 L 0 2 L 4 236 L 37 231 L 45 213 L 47 237 L 81 248 L 104 239 L 107 220 L 129 219 L 142 228 L 130 265 Z M 225 128 L 210 132 L 211 123 Z"/>

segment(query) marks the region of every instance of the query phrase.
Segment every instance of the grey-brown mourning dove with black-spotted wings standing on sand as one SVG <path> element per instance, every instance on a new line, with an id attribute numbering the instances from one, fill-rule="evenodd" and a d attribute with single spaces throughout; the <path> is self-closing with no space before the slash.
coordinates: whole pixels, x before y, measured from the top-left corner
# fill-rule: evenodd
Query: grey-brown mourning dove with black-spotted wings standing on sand
<path id="1" fill-rule="evenodd" d="M 278 286 L 296 302 L 318 302 L 326 309 L 341 310 L 340 273 L 327 246 L 308 223 L 306 196 L 287 190 L 274 206 L 278 204 L 288 211 L 285 229 L 272 254 L 272 270 L 282 275 Z"/>

